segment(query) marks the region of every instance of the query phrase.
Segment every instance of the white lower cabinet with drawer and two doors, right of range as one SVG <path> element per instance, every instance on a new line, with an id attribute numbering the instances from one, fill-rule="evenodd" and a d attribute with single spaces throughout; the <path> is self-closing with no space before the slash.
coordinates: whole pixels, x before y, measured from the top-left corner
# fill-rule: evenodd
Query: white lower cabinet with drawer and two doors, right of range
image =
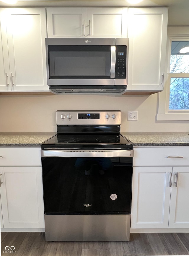
<path id="1" fill-rule="evenodd" d="M 188 155 L 189 148 L 134 150 L 131 229 L 189 228 Z"/>

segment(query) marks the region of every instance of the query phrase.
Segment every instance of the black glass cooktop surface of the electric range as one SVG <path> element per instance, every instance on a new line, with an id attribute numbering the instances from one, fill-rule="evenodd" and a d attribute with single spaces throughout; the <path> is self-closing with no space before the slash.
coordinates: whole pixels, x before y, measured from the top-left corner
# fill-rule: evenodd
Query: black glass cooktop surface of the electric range
<path id="1" fill-rule="evenodd" d="M 133 148 L 121 134 L 57 134 L 42 143 L 41 148 Z"/>

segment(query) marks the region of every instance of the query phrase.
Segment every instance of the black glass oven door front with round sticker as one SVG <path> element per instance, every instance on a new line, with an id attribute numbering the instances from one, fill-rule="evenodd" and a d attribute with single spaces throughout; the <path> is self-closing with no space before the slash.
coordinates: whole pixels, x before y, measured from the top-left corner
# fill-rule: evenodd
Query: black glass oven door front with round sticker
<path id="1" fill-rule="evenodd" d="M 46 214 L 131 213 L 132 158 L 44 157 Z"/>

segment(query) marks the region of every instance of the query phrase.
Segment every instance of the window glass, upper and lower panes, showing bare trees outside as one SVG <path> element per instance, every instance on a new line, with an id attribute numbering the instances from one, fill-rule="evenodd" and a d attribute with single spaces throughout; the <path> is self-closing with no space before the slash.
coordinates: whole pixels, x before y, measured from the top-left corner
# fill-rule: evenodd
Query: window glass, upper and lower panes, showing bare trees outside
<path id="1" fill-rule="evenodd" d="M 180 49 L 189 46 L 188 41 L 172 41 L 170 58 L 170 110 L 189 109 L 189 50 L 180 53 Z"/>

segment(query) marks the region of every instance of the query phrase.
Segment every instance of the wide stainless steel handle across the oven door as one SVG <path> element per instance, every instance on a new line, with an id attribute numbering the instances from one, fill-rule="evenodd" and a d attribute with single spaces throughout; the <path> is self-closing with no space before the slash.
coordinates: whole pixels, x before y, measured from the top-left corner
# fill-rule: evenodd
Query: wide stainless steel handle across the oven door
<path id="1" fill-rule="evenodd" d="M 41 150 L 42 157 L 133 157 L 133 150 Z"/>

